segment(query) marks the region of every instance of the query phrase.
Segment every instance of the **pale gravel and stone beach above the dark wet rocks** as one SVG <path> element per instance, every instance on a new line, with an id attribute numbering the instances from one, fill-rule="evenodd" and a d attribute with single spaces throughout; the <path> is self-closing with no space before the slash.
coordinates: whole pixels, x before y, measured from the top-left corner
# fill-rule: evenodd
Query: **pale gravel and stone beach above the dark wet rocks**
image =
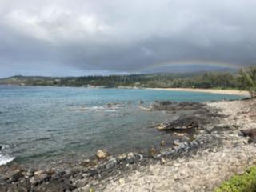
<path id="1" fill-rule="evenodd" d="M 140 167 L 106 183 L 102 191 L 213 191 L 232 174 L 241 174 L 246 167 L 256 164 L 255 144 L 249 144 L 239 131 L 256 127 L 256 100 L 207 105 L 226 116 L 219 130 L 210 131 L 221 139 L 222 145 L 189 157 Z M 86 186 L 78 191 L 88 189 Z"/>

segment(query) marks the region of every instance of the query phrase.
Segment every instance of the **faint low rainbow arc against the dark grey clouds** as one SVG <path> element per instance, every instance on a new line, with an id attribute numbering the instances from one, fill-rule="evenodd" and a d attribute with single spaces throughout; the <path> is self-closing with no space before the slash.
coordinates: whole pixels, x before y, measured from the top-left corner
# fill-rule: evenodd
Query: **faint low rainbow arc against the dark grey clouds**
<path id="1" fill-rule="evenodd" d="M 204 60 L 183 60 L 183 61 L 167 61 L 162 63 L 154 63 L 147 66 L 144 66 L 139 71 L 146 70 L 157 70 L 169 66 L 210 66 L 210 67 L 219 67 L 219 68 L 230 68 L 238 70 L 241 66 L 238 63 L 229 63 L 229 62 L 216 62 L 216 61 L 204 61 Z"/>

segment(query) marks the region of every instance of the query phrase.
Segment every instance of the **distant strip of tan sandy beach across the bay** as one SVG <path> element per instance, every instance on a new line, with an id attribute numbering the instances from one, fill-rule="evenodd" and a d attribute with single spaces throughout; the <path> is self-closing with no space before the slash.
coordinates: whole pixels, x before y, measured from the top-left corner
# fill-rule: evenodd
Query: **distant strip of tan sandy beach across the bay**
<path id="1" fill-rule="evenodd" d="M 214 89 L 198 89 L 198 88 L 146 88 L 147 90 L 171 90 L 171 91 L 188 91 L 188 92 L 202 92 L 210 94 L 231 94 L 242 95 L 249 97 L 250 94 L 246 90 L 214 90 Z"/>

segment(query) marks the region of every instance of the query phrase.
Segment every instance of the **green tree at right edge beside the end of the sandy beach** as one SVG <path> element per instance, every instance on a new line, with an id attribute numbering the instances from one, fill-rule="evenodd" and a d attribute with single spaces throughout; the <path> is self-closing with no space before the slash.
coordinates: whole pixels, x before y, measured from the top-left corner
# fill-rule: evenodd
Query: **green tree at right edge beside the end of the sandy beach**
<path id="1" fill-rule="evenodd" d="M 239 82 L 242 90 L 248 90 L 250 98 L 256 98 L 256 66 L 239 71 Z"/>

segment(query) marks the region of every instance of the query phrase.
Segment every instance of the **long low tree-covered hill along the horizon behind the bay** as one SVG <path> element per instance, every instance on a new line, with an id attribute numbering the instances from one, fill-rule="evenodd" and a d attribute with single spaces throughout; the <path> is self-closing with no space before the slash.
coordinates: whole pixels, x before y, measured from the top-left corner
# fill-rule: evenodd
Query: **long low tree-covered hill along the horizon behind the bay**
<path id="1" fill-rule="evenodd" d="M 131 74 L 84 77 L 13 76 L 0 79 L 0 85 L 18 86 L 103 86 L 109 87 L 196 87 L 237 88 L 238 74 L 228 72 L 182 74 Z"/>

